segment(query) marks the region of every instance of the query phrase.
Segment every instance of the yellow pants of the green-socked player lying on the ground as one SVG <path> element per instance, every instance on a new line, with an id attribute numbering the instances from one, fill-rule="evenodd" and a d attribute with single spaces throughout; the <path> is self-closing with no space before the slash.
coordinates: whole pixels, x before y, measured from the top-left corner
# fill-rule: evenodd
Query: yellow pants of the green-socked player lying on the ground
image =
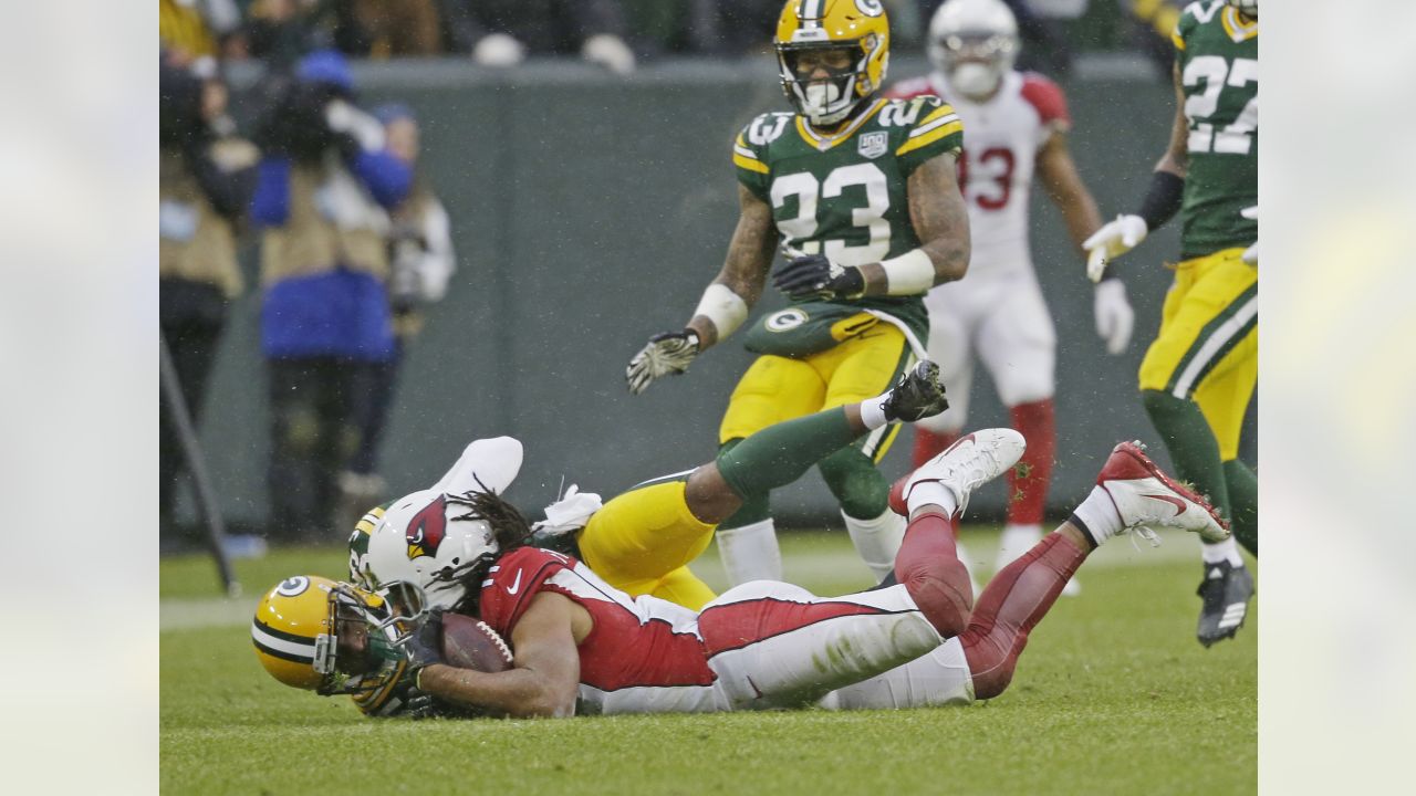
<path id="1" fill-rule="evenodd" d="M 712 541 L 692 516 L 684 479 L 651 483 L 610 499 L 581 531 L 581 555 L 609 585 L 698 610 L 712 589 L 688 569 Z"/>

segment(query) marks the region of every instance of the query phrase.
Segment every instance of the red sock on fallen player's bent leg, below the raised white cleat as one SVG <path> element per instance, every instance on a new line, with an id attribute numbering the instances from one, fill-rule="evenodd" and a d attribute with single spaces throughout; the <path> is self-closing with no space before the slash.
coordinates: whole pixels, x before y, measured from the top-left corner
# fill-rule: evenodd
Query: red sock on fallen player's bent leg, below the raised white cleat
<path id="1" fill-rule="evenodd" d="M 895 555 L 895 579 L 905 584 L 925 619 L 946 639 L 964 630 L 973 606 L 969 569 L 959 561 L 954 533 L 949 517 L 920 514 L 905 528 Z"/>

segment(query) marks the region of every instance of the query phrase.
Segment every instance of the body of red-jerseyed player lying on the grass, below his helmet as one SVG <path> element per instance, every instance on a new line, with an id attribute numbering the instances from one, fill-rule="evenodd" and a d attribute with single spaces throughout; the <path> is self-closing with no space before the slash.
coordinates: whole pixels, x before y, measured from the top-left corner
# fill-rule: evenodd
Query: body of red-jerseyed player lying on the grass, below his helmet
<path id="1" fill-rule="evenodd" d="M 954 523 L 970 491 L 1022 450 L 1012 429 L 978 431 L 903 479 L 892 501 L 909 517 L 898 582 L 838 598 L 758 581 L 694 612 L 630 598 L 564 554 L 500 550 L 476 609 L 510 640 L 514 667 L 483 673 L 443 664 L 433 613 L 402 644 L 413 681 L 442 703 L 514 717 L 967 704 L 1007 688 L 1028 633 L 1099 544 L 1155 527 L 1228 535 L 1204 499 L 1161 473 L 1138 446 L 1121 443 L 1070 518 L 1005 567 L 974 606 L 954 552 Z M 716 482 L 719 494 L 731 493 L 724 469 L 705 465 L 698 473 Z M 470 503 L 476 517 L 514 516 L 490 491 Z M 524 523 L 510 528 L 513 535 L 525 530 Z"/>

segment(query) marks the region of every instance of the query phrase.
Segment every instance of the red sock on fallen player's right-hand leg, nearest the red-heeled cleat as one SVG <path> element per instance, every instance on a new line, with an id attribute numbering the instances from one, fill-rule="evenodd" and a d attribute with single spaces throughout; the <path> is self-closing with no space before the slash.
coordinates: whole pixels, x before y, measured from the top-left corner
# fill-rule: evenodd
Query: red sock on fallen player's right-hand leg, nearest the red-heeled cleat
<path id="1" fill-rule="evenodd" d="M 1052 533 L 988 581 L 969 629 L 960 636 L 974 697 L 988 700 L 1008 687 L 1018 656 L 1028 646 L 1028 632 L 1052 608 L 1089 552 Z"/>

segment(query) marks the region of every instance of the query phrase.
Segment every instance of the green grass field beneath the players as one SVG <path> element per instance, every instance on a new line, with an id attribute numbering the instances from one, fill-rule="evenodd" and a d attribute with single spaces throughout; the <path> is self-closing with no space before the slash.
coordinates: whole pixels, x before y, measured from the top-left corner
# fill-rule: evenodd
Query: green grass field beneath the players
<path id="1" fill-rule="evenodd" d="M 995 534 L 964 544 L 991 562 Z M 1198 544 L 1116 540 L 1034 630 L 1012 687 L 967 708 L 365 720 L 344 697 L 280 686 L 248 623 L 261 592 L 340 576 L 341 548 L 238 562 L 219 599 L 207 558 L 161 562 L 161 788 L 167 793 L 1252 793 L 1257 620 L 1194 639 Z M 986 555 L 984 555 L 986 554 Z M 844 533 L 787 534 L 787 579 L 817 593 L 868 585 Z M 695 567 L 722 585 L 715 551 Z M 984 567 L 987 571 L 987 567 Z"/>

